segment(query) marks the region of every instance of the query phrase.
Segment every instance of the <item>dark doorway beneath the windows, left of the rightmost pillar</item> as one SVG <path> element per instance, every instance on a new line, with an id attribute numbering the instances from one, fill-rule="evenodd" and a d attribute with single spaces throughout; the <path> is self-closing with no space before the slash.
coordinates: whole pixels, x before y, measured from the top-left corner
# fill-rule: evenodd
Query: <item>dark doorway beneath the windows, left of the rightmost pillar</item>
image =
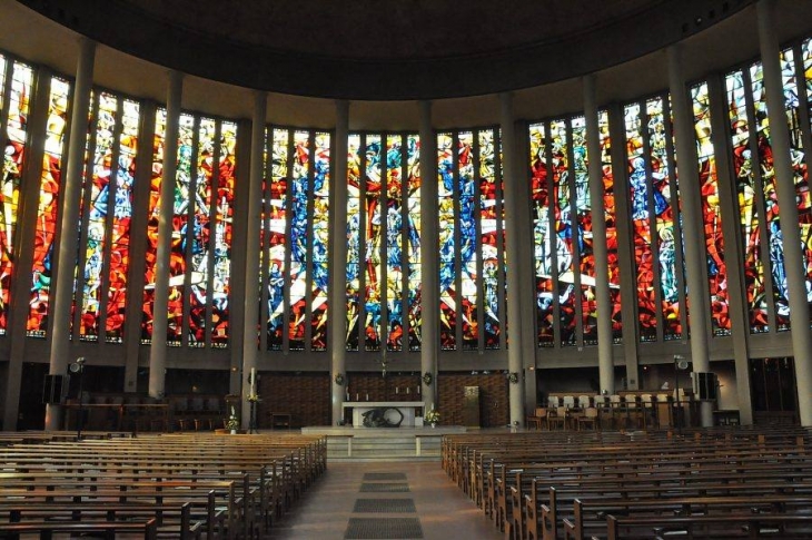
<path id="1" fill-rule="evenodd" d="M 792 357 L 750 361 L 753 420 L 756 424 L 796 424 L 798 386 Z"/>

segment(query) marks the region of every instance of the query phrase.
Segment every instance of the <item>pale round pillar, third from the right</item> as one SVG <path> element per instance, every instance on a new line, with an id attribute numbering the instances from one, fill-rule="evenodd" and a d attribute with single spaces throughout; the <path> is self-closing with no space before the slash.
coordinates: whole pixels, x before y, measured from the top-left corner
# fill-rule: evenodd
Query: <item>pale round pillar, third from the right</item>
<path id="1" fill-rule="evenodd" d="M 612 361 L 612 297 L 610 295 L 606 217 L 603 202 L 603 164 L 601 163 L 601 127 L 597 122 L 595 76 L 584 77 L 584 116 L 586 116 L 586 155 L 590 157 L 590 205 L 592 206 L 592 245 L 595 256 L 595 303 L 597 305 L 597 366 L 601 391 L 615 393 Z"/>

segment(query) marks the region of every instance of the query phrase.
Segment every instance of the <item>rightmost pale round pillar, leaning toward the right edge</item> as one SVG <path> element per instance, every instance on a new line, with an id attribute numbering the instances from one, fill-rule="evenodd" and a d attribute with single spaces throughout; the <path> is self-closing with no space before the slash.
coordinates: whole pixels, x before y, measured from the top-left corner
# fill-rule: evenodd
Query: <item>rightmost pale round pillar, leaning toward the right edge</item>
<path id="1" fill-rule="evenodd" d="M 806 301 L 806 275 L 803 272 L 805 263 L 798 226 L 795 183 L 790 158 L 790 130 L 784 110 L 779 39 L 773 22 L 774 9 L 774 0 L 760 0 L 756 3 L 759 45 L 764 70 L 764 90 L 766 91 L 779 208 L 781 208 L 781 234 L 786 267 L 786 287 L 790 296 L 792 350 L 795 356 L 798 410 L 801 415 L 801 425 L 812 426 L 812 392 L 810 392 L 812 387 L 812 334 L 810 333 L 810 312 Z"/>

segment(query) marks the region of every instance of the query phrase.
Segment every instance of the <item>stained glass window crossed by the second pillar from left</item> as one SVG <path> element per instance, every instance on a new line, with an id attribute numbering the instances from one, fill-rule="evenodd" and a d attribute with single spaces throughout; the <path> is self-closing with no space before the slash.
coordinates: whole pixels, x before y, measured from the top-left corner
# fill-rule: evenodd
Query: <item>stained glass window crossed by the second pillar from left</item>
<path id="1" fill-rule="evenodd" d="M 142 343 L 149 343 L 152 333 L 166 121 L 166 110 L 159 109 L 148 208 Z M 184 341 L 191 347 L 226 347 L 229 343 L 236 141 L 234 122 L 180 115 L 169 253 L 169 346 L 180 346 Z"/>

